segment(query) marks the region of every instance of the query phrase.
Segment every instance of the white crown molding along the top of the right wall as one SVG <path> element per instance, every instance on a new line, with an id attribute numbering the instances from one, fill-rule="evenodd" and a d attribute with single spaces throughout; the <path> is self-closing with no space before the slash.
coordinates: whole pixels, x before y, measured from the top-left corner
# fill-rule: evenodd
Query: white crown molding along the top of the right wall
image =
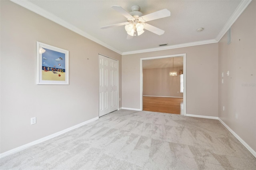
<path id="1" fill-rule="evenodd" d="M 245 8 L 250 4 L 252 0 L 242 0 L 232 16 L 229 18 L 228 22 L 224 25 L 218 36 L 215 38 L 217 42 L 226 34 L 229 28 L 234 24 L 237 18 L 244 12 Z"/>

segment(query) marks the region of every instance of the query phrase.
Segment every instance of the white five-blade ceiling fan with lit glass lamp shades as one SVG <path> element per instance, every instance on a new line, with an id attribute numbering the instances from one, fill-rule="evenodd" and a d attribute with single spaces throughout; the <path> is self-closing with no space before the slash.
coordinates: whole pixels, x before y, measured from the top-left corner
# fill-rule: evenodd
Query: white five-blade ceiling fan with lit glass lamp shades
<path id="1" fill-rule="evenodd" d="M 128 36 L 136 36 L 136 35 L 140 36 L 141 34 L 144 33 L 144 29 L 148 30 L 150 32 L 153 32 L 154 34 L 162 35 L 162 34 L 164 34 L 164 30 L 161 30 L 160 28 L 156 28 L 156 27 L 154 27 L 150 24 L 147 24 L 145 22 L 156 20 L 159 18 L 168 17 L 171 15 L 171 12 L 167 9 L 160 10 L 160 11 L 153 12 L 151 14 L 142 16 L 142 12 L 140 12 L 140 7 L 137 5 L 134 5 L 131 7 L 132 12 L 130 12 L 130 13 L 126 12 L 126 10 L 124 10 L 121 6 L 114 5 L 111 7 L 114 10 L 116 10 L 117 12 L 120 12 L 123 16 L 125 16 L 127 18 L 127 22 L 113 24 L 110 26 L 104 26 L 104 27 L 101 27 L 101 29 L 125 25 L 124 28 L 125 28 Z"/>

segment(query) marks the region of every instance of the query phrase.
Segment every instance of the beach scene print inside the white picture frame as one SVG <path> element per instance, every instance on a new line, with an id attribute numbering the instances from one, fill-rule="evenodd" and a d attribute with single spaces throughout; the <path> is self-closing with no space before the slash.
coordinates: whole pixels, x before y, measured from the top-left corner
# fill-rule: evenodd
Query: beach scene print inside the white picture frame
<path id="1" fill-rule="evenodd" d="M 65 53 L 44 48 L 42 53 L 42 80 L 65 81 Z"/>

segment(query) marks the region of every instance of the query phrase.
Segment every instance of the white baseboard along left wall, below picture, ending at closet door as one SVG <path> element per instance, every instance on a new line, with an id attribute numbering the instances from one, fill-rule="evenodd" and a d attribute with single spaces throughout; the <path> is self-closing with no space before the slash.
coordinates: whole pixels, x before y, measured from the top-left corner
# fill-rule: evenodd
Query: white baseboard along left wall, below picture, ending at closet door
<path id="1" fill-rule="evenodd" d="M 19 152 L 19 151 L 21 151 L 21 150 L 24 150 L 24 149 L 26 149 L 26 148 L 28 148 L 28 147 L 30 147 L 30 146 L 35 145 L 35 144 L 39 144 L 39 143 L 44 142 L 44 141 L 46 141 L 46 140 L 49 140 L 49 139 L 51 139 L 51 138 L 55 138 L 56 136 L 59 136 L 59 135 L 64 134 L 64 133 L 66 133 L 66 132 L 68 132 L 68 131 L 70 131 L 70 130 L 73 130 L 73 129 L 75 129 L 75 128 L 78 128 L 78 127 L 81 127 L 81 126 L 86 125 L 86 124 L 88 124 L 88 123 L 91 123 L 91 122 L 93 122 L 93 121 L 96 121 L 97 119 L 99 119 L 99 117 L 95 117 L 95 118 L 90 119 L 90 120 L 88 120 L 88 121 L 79 123 L 78 125 L 72 126 L 72 127 L 70 127 L 70 128 L 66 128 L 66 129 L 64 129 L 64 130 L 61 130 L 60 132 L 56 132 L 56 133 L 54 133 L 54 134 L 50 134 L 49 136 L 45 136 L 45 137 L 40 138 L 40 139 L 38 139 L 38 140 L 35 140 L 35 141 L 33 141 L 33 142 L 30 142 L 30 143 L 24 144 L 24 145 L 22 145 L 22 146 L 19 146 L 19 147 L 17 147 L 17 148 L 14 148 L 14 149 L 12 149 L 12 150 L 8 150 L 8 151 L 6 151 L 6 152 L 3 152 L 2 154 L 0 154 L 0 159 L 1 159 L 1 158 L 4 158 L 4 157 L 6 157 L 6 156 L 8 156 L 8 155 L 10 155 L 10 154 L 14 154 L 14 153 L 16 153 L 16 152 Z"/>

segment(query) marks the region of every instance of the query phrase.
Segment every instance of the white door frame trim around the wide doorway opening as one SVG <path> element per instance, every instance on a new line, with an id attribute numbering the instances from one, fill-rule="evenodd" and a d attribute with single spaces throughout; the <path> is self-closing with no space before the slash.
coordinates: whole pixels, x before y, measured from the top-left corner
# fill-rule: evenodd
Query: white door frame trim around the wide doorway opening
<path id="1" fill-rule="evenodd" d="M 143 68 L 142 68 L 142 61 L 143 60 L 148 60 L 148 59 L 160 59 L 160 58 L 169 58 L 169 57 L 183 57 L 183 87 L 184 87 L 184 89 L 183 89 L 183 113 L 181 113 L 181 115 L 186 116 L 186 53 L 140 58 L 140 111 L 143 110 Z"/>

